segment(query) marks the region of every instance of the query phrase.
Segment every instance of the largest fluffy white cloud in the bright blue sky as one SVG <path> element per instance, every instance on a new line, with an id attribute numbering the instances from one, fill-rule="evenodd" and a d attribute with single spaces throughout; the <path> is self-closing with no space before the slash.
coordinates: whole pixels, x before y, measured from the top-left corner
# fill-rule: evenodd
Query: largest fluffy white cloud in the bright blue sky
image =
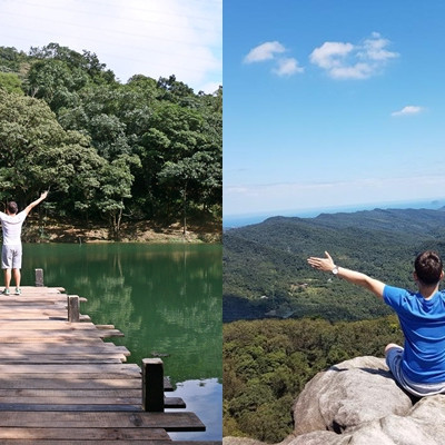
<path id="1" fill-rule="evenodd" d="M 389 40 L 378 32 L 363 43 L 325 42 L 309 56 L 310 61 L 327 71 L 334 79 L 367 79 L 382 71 L 389 59 L 397 52 L 386 49 Z"/>

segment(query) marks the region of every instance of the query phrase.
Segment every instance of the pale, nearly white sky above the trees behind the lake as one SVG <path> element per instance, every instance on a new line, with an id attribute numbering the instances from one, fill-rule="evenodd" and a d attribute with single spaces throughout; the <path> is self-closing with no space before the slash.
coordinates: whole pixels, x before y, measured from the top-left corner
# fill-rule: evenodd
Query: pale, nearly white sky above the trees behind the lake
<path id="1" fill-rule="evenodd" d="M 95 52 L 117 78 L 222 85 L 222 0 L 0 0 L 0 46 Z"/>

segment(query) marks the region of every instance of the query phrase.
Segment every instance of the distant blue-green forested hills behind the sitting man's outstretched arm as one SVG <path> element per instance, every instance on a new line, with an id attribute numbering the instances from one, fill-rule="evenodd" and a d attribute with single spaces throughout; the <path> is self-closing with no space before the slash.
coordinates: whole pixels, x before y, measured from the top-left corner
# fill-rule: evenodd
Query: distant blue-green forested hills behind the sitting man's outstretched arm
<path id="1" fill-rule="evenodd" d="M 445 211 L 380 210 L 276 217 L 224 234 L 224 317 L 322 317 L 357 320 L 389 314 L 369 293 L 313 270 L 306 259 L 328 250 L 335 261 L 395 286 L 414 286 L 415 255 L 445 253 Z"/>

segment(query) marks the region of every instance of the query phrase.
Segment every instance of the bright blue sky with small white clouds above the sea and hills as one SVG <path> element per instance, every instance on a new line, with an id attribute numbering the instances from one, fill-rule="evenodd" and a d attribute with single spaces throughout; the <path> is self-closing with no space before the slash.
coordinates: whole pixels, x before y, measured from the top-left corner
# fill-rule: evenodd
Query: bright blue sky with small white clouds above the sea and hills
<path id="1" fill-rule="evenodd" d="M 445 2 L 224 0 L 224 215 L 445 198 Z"/>

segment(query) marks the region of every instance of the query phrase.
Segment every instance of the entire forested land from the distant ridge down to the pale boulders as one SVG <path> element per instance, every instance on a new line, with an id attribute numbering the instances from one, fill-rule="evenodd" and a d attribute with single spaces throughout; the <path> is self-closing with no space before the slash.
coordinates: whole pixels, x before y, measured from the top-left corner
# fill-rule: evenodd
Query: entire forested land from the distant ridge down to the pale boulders
<path id="1" fill-rule="evenodd" d="M 375 209 L 275 217 L 224 233 L 224 435 L 278 443 L 318 372 L 403 342 L 397 318 L 369 291 L 312 269 L 339 266 L 415 290 L 413 263 L 445 253 L 444 209 Z"/>

